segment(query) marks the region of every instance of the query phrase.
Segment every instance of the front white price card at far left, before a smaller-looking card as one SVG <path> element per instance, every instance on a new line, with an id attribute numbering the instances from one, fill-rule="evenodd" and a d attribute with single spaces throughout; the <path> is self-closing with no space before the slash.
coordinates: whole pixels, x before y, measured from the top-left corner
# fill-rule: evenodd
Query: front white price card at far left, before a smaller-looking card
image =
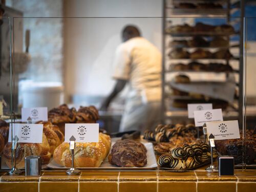
<path id="1" fill-rule="evenodd" d="M 42 128 L 43 124 L 23 124 L 13 123 L 10 124 L 9 138 L 8 141 L 12 142 L 11 139 L 11 127 L 13 137 L 18 137 L 19 143 L 41 143 L 42 142 Z"/>

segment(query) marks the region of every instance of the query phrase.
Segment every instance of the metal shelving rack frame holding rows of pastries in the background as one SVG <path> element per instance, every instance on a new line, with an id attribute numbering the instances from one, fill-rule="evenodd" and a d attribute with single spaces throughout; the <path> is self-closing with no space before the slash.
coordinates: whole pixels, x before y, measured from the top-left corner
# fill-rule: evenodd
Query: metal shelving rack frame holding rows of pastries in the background
<path id="1" fill-rule="evenodd" d="M 168 46 L 167 48 L 167 43 L 166 42 L 166 37 L 168 35 L 172 35 L 173 37 L 186 37 L 186 36 L 194 36 L 194 35 L 203 35 L 203 36 L 225 36 L 227 37 L 227 39 L 229 39 L 230 36 L 232 35 L 239 35 L 239 43 L 237 44 L 230 44 L 229 42 L 229 46 L 226 47 L 198 47 L 201 49 L 239 49 L 239 55 L 237 57 L 231 58 L 231 59 L 222 59 L 225 61 L 226 64 L 229 64 L 230 60 L 237 60 L 239 62 L 238 67 L 239 69 L 233 70 L 232 72 L 214 72 L 214 73 L 225 73 L 226 75 L 228 75 L 229 73 L 235 73 L 238 75 L 239 77 L 239 81 L 237 82 L 237 86 L 238 86 L 238 90 L 239 90 L 239 97 L 237 99 L 237 103 L 235 105 L 237 105 L 236 110 L 231 110 L 231 111 L 224 111 L 223 115 L 224 115 L 224 119 L 238 119 L 239 118 L 239 122 L 240 122 L 240 126 L 242 127 L 242 122 L 243 122 L 243 74 L 244 74 L 244 67 L 243 67 L 243 53 L 244 53 L 244 46 L 243 46 L 243 39 L 244 39 L 244 32 L 243 32 L 243 26 L 244 26 L 244 20 L 243 20 L 243 16 L 244 16 L 244 3 L 243 1 L 232 1 L 232 0 L 225 0 L 225 1 L 209 1 L 211 3 L 220 3 L 222 5 L 226 5 L 225 8 L 223 9 L 178 9 L 178 8 L 174 8 L 174 7 L 170 7 L 170 2 L 168 1 L 172 1 L 171 4 L 174 3 L 206 3 L 207 1 L 201 1 L 201 0 L 194 0 L 194 1 L 185 1 L 185 0 L 163 0 L 163 20 L 162 20 L 162 34 L 163 34 L 163 38 L 162 38 L 162 52 L 163 52 L 163 59 L 162 59 L 162 121 L 163 123 L 166 122 L 166 120 L 172 120 L 172 118 L 175 119 L 180 119 L 180 120 L 187 120 L 187 112 L 186 111 L 170 111 L 167 107 L 166 107 L 166 95 L 168 95 L 168 93 L 166 93 L 166 86 L 168 84 L 167 80 L 166 80 L 166 76 L 169 73 L 174 73 L 174 72 L 182 72 L 182 73 L 193 73 L 194 71 L 172 71 L 167 68 L 167 64 L 169 65 L 168 61 L 169 58 L 167 57 L 168 52 L 170 51 L 170 49 L 175 48 L 172 47 L 170 48 Z M 237 4 L 239 5 L 239 7 L 236 8 L 231 8 L 231 4 Z M 230 18 L 230 14 L 241 10 L 240 12 L 240 18 L 238 18 L 238 20 L 234 19 L 234 17 L 232 18 L 233 20 L 231 20 Z M 170 17 L 222 17 L 222 18 L 226 18 L 227 19 L 227 23 L 228 24 L 234 24 L 234 23 L 238 23 L 240 22 L 240 30 L 236 31 L 235 33 L 232 34 L 218 34 L 218 33 L 212 33 L 212 32 L 203 32 L 203 33 L 168 33 L 165 31 L 167 23 L 168 23 L 168 18 Z M 181 46 L 179 48 L 183 48 L 186 50 L 189 49 L 196 49 L 197 47 L 186 47 L 186 46 Z M 207 58 L 208 59 L 208 58 Z M 174 60 L 174 59 L 172 59 Z M 175 59 L 175 60 L 188 60 L 188 59 Z M 201 59 L 190 59 L 191 61 L 197 61 L 197 60 L 201 60 Z M 212 59 L 208 59 L 209 61 Z M 217 61 L 217 59 L 214 59 L 215 61 Z M 198 72 L 198 71 L 197 71 Z M 200 71 L 203 73 L 207 73 L 209 71 Z M 189 97 L 189 96 L 188 96 Z M 184 98 L 184 97 L 183 97 Z"/>

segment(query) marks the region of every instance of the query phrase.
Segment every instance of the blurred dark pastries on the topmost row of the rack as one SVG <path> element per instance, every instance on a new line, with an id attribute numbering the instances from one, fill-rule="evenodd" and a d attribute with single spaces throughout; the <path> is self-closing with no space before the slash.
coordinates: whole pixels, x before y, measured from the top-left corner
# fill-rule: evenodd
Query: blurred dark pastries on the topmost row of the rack
<path id="1" fill-rule="evenodd" d="M 174 8 L 177 9 L 222 9 L 221 4 L 206 2 L 206 3 L 179 3 L 175 4 Z"/>

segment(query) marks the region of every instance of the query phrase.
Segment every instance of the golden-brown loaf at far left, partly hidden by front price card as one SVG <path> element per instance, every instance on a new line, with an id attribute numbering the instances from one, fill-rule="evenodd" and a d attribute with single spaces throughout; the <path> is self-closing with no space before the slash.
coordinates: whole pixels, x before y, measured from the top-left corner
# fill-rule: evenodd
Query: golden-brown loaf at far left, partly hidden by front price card
<path id="1" fill-rule="evenodd" d="M 7 143 L 5 145 L 3 151 L 3 159 L 6 162 L 8 167 L 12 167 L 12 144 Z M 17 143 L 16 148 L 16 167 L 17 168 L 24 168 L 25 167 L 25 157 L 27 156 L 41 156 L 41 163 L 47 164 L 50 162 L 51 153 L 50 153 L 50 146 L 45 134 L 42 134 L 42 143 Z"/>

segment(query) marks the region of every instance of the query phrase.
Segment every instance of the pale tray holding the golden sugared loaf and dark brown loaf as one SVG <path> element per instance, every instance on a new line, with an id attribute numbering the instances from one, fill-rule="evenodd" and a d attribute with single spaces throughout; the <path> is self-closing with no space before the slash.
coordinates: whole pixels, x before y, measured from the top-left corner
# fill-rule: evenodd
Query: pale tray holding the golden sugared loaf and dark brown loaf
<path id="1" fill-rule="evenodd" d="M 112 143 L 113 146 L 114 143 Z M 154 170 L 157 168 L 153 144 L 150 142 L 143 143 L 146 147 L 147 164 L 144 167 L 118 167 L 109 163 L 108 157 L 102 162 L 100 167 L 76 167 L 80 170 Z M 47 165 L 49 169 L 67 170 L 69 167 L 61 167 L 53 159 Z"/>

